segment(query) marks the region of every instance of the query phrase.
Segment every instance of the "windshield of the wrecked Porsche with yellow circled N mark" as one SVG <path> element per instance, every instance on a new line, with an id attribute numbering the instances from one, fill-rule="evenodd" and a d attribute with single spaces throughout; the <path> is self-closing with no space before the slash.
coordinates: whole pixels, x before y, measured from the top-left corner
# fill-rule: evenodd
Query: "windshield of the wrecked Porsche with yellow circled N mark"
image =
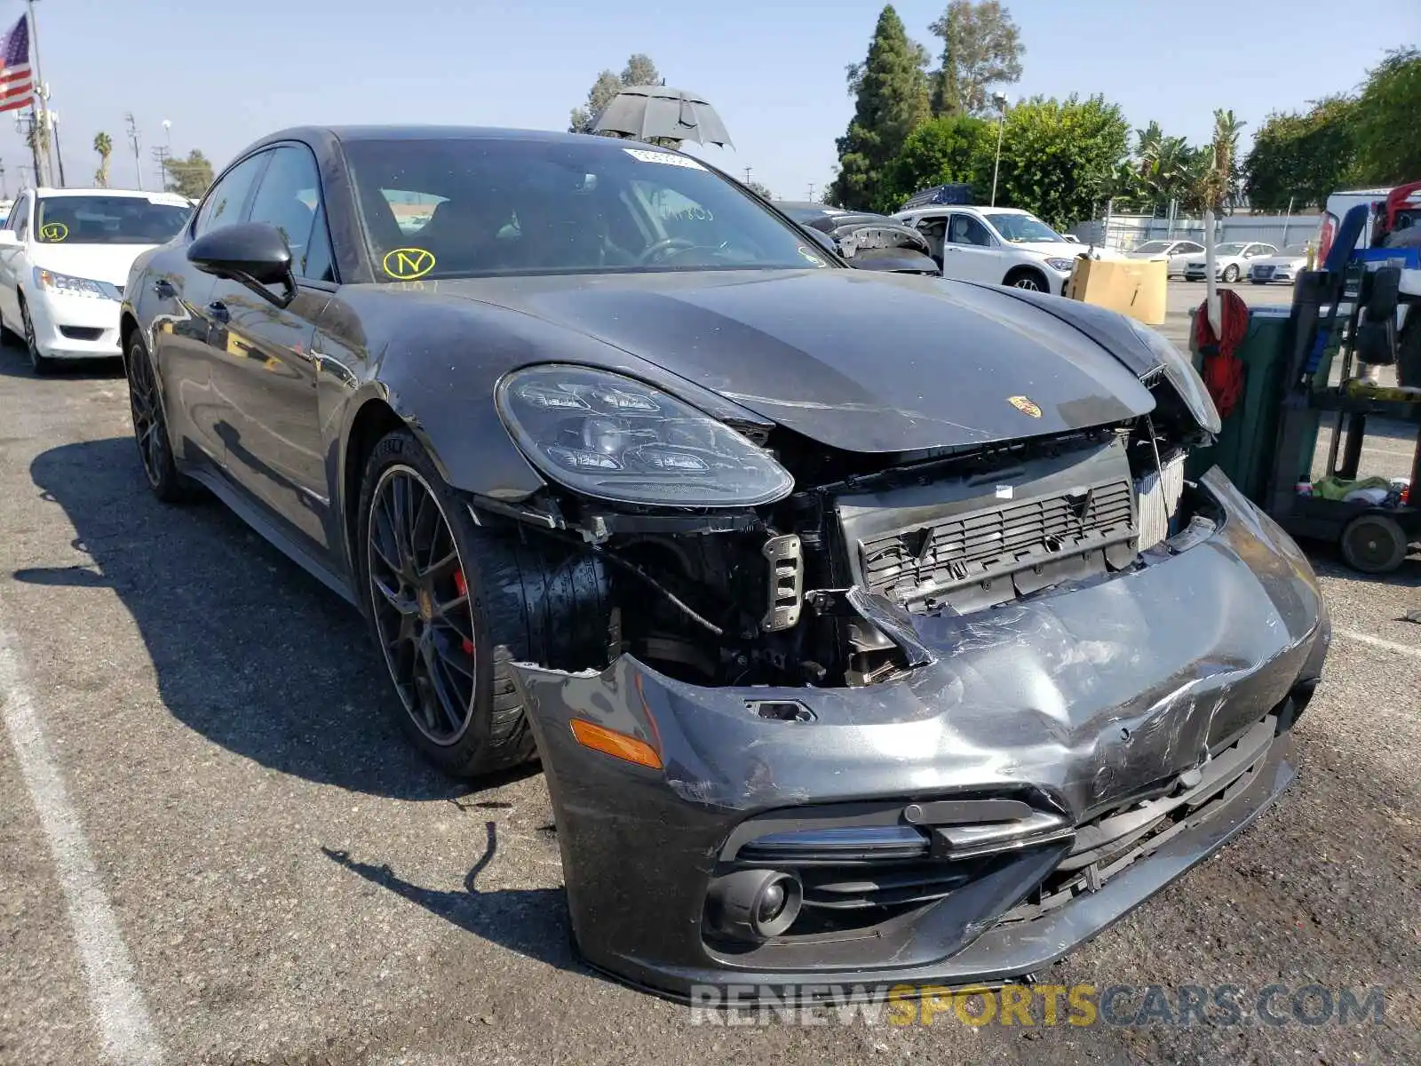
<path id="1" fill-rule="evenodd" d="M 625 141 L 344 148 L 381 281 L 833 264 L 733 182 Z"/>

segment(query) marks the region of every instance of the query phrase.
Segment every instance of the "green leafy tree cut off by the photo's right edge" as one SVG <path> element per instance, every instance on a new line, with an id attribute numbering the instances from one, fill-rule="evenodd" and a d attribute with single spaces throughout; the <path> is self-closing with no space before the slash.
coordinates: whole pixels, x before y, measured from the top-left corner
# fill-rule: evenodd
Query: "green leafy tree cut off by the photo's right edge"
<path id="1" fill-rule="evenodd" d="M 1366 183 L 1421 179 L 1421 51 L 1394 48 L 1357 99 L 1357 169 Z"/>

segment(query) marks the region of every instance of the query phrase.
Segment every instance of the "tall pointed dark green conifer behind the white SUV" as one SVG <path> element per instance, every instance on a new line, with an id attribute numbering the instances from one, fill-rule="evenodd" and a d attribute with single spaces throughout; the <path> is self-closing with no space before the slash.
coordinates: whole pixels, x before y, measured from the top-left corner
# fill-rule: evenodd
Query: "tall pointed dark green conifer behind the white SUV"
<path id="1" fill-rule="evenodd" d="M 928 117 L 925 53 L 908 40 L 902 20 L 884 7 L 863 68 L 851 67 L 850 91 L 857 97 L 848 129 L 836 142 L 838 175 L 826 200 L 867 209 L 881 195 L 884 168 L 898 155 L 908 134 Z"/>

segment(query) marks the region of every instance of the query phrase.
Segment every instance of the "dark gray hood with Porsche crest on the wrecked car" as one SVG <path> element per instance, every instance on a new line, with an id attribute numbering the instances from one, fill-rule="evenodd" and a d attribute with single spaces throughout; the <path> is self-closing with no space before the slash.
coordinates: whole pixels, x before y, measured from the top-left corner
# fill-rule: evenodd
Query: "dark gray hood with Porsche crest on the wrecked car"
<path id="1" fill-rule="evenodd" d="M 1123 362 L 1054 316 L 935 277 L 725 270 L 431 287 L 594 337 L 854 452 L 1043 436 L 1154 407 Z"/>

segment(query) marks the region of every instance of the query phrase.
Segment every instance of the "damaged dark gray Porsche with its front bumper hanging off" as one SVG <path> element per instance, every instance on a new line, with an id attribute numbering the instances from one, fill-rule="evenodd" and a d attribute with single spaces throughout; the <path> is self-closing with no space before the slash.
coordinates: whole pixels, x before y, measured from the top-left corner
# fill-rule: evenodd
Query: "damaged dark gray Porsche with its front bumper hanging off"
<path id="1" fill-rule="evenodd" d="M 243 152 L 122 335 L 153 492 L 351 600 L 445 770 L 540 755 L 632 984 L 1029 974 L 1295 776 L 1317 581 L 1128 318 L 649 145 L 342 128 Z"/>

